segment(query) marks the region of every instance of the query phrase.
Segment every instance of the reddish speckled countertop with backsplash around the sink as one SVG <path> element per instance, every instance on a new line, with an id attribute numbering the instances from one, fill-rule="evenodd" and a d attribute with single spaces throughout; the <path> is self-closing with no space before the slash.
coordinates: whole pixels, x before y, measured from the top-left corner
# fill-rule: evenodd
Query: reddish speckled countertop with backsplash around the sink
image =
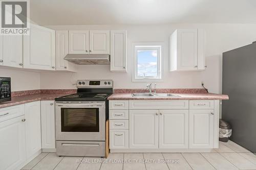
<path id="1" fill-rule="evenodd" d="M 158 93 L 173 93 L 179 96 L 137 96 L 132 93 L 146 92 L 145 89 L 115 89 L 108 100 L 228 100 L 228 95 L 207 93 L 205 89 L 157 89 Z"/>

